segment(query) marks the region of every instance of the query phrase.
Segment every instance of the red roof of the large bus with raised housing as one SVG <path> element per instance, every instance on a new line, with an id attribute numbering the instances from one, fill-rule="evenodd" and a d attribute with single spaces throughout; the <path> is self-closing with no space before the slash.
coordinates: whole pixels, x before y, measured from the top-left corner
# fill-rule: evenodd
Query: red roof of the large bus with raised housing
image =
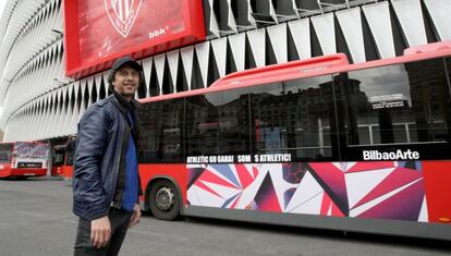
<path id="1" fill-rule="evenodd" d="M 203 95 L 207 93 L 215 93 L 220 90 L 228 90 L 233 88 L 241 88 L 256 84 L 269 84 L 283 80 L 295 80 L 318 75 L 327 75 L 332 73 L 368 69 L 374 66 L 412 62 L 423 59 L 432 59 L 442 56 L 451 56 L 451 40 L 411 47 L 409 49 L 405 49 L 404 54 L 400 57 L 353 64 L 351 64 L 348 61 L 348 57 L 344 53 L 336 53 L 331 56 L 315 57 L 307 60 L 291 61 L 281 64 L 273 64 L 235 72 L 216 81 L 208 88 L 155 96 L 141 99 L 139 101 L 143 103 L 161 101 L 181 97 Z"/>

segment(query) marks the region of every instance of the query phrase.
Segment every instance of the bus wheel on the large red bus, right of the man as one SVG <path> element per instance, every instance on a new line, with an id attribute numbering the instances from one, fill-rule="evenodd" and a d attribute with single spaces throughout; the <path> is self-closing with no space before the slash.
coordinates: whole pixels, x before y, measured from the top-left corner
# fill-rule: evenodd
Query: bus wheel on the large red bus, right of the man
<path id="1" fill-rule="evenodd" d="M 168 180 L 157 181 L 149 193 L 149 207 L 155 218 L 174 220 L 179 216 L 180 199 L 174 184 Z"/>

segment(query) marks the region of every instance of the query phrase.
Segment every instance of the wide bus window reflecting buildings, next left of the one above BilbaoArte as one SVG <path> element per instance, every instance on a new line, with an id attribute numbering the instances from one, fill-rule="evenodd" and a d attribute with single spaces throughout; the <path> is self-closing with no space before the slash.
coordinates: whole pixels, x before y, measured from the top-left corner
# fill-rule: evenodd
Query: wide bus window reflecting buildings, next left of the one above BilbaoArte
<path id="1" fill-rule="evenodd" d="M 320 76 L 253 88 L 257 153 L 290 153 L 297 159 L 331 157 L 332 86 L 331 76 Z"/>

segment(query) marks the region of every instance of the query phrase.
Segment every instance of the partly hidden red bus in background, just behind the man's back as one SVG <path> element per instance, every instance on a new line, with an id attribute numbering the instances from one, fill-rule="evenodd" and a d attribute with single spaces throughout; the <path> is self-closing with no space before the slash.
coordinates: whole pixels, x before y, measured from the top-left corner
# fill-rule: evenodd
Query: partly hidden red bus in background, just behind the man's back
<path id="1" fill-rule="evenodd" d="M 72 180 L 75 138 L 75 136 L 69 136 L 65 144 L 53 146 L 52 175 L 59 175 L 66 181 Z"/>

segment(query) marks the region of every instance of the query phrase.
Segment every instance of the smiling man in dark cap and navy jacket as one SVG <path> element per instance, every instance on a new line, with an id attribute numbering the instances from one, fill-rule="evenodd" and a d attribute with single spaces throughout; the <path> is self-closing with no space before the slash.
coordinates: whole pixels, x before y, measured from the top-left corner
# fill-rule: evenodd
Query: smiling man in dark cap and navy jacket
<path id="1" fill-rule="evenodd" d="M 112 95 L 90 106 L 78 123 L 73 211 L 80 217 L 74 255 L 118 255 L 129 227 L 139 222 L 135 92 L 142 68 L 117 59 L 108 78 Z"/>

